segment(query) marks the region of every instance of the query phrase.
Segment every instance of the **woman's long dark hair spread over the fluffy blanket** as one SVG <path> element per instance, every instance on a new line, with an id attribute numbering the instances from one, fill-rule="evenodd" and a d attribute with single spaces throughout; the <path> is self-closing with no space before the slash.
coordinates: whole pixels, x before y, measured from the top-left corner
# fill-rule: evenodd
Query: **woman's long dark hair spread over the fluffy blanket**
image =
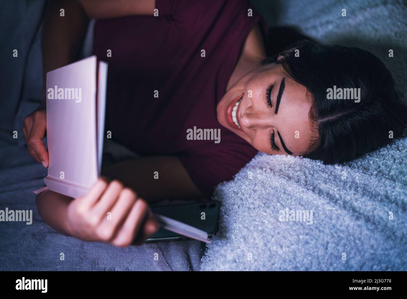
<path id="1" fill-rule="evenodd" d="M 295 51 L 299 50 L 299 57 Z M 303 40 L 267 58 L 281 63 L 289 78 L 304 85 L 313 97 L 310 118 L 318 131 L 305 157 L 325 164 L 350 161 L 400 137 L 407 125 L 394 79 L 383 62 L 359 48 L 318 45 Z M 360 88 L 360 102 L 328 99 L 327 89 Z"/>

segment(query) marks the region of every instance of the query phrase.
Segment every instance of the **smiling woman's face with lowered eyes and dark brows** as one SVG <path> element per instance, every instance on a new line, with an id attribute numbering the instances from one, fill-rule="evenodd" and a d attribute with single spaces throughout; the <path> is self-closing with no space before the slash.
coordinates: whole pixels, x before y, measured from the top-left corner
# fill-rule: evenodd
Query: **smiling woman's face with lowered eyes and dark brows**
<path id="1" fill-rule="evenodd" d="M 309 118 L 311 105 L 306 87 L 285 76 L 282 65 L 271 63 L 245 74 L 230 88 L 217 105 L 217 118 L 258 151 L 305 155 L 318 134 Z"/>

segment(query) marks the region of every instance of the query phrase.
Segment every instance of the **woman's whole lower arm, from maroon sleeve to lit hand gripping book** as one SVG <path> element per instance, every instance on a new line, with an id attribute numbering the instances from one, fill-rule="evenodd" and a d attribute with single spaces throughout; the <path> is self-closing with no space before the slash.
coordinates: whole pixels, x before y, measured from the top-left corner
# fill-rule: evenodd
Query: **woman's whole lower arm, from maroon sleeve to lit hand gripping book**
<path id="1" fill-rule="evenodd" d="M 141 244 L 158 228 L 146 201 L 204 196 L 176 157 L 141 157 L 111 164 L 102 171 L 120 182 L 100 179 L 86 196 L 77 199 L 46 190 L 37 196 L 41 218 L 66 236 L 127 246 L 135 234 Z M 108 212 L 120 218 L 107 221 Z"/>

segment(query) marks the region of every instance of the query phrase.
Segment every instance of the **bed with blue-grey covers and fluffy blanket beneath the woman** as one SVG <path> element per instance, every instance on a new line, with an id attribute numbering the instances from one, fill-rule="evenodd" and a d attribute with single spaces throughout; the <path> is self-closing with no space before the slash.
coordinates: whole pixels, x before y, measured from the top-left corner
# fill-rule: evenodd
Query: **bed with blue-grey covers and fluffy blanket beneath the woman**
<path id="1" fill-rule="evenodd" d="M 21 132 L 24 116 L 41 96 L 44 3 L 0 4 L 0 11 L 8 12 L 0 18 L 1 26 L 9 28 L 1 33 L 9 47 L 0 49 L 0 210 L 33 210 L 31 225 L 0 223 L 0 270 L 407 270 L 406 137 L 335 166 L 259 153 L 232 181 L 216 188 L 213 199 L 222 208 L 219 233 L 210 245 L 191 240 L 120 249 L 82 242 L 48 227 L 31 193 L 43 186 L 46 169 L 28 156 Z M 370 50 L 383 59 L 406 95 L 403 2 L 252 3 L 271 26 L 294 26 L 324 43 Z M 90 52 L 91 33 L 90 27 L 83 55 Z M 13 49 L 18 58 L 9 58 Z M 388 56 L 389 49 L 394 57 Z M 291 211 L 308 211 L 308 221 L 284 221 Z"/>

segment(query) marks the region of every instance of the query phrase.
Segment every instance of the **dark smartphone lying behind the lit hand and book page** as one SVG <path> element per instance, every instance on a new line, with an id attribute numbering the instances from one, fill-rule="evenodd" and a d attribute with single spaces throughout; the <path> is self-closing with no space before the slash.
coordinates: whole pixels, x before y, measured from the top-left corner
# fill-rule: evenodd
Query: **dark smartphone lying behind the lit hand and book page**
<path id="1" fill-rule="evenodd" d="M 209 238 L 217 233 L 219 228 L 219 201 L 200 203 L 183 203 L 177 205 L 152 206 L 153 213 L 181 221 L 208 233 Z M 168 231 L 162 227 L 145 242 L 158 242 L 164 240 L 190 240 L 186 236 Z"/>

